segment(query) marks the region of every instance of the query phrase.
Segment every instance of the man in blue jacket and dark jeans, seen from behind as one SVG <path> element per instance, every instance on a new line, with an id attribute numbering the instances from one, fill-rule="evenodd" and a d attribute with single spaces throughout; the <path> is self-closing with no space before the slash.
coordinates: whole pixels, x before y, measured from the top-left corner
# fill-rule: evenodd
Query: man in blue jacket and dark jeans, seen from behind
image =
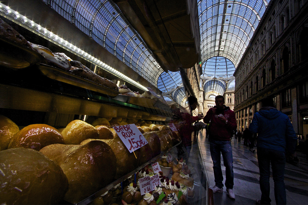
<path id="1" fill-rule="evenodd" d="M 252 133 L 258 133 L 257 157 L 260 170 L 261 199 L 256 204 L 270 204 L 270 163 L 274 179 L 276 204 L 286 204 L 284 171 L 286 149 L 295 152 L 297 137 L 287 115 L 274 108 L 273 99 L 265 98 L 262 108 L 253 115 L 249 125 Z"/>

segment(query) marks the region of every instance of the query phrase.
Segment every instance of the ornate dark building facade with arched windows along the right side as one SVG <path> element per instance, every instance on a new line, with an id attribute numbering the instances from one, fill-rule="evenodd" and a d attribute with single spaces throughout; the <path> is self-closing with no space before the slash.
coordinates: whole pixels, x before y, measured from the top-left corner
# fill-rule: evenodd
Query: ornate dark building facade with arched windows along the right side
<path id="1" fill-rule="evenodd" d="M 272 97 L 295 132 L 308 134 L 307 54 L 307 0 L 270 1 L 234 72 L 238 129 L 249 126 L 263 98 Z"/>

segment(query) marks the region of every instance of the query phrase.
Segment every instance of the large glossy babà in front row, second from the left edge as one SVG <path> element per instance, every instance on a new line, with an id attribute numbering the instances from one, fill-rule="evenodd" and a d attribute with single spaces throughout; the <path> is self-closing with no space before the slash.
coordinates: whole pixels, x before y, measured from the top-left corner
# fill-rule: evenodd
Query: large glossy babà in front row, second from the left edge
<path id="1" fill-rule="evenodd" d="M 64 197 L 78 203 L 114 180 L 116 157 L 102 140 L 85 145 L 51 144 L 40 150 L 60 165 L 67 176 L 69 189 Z"/>

